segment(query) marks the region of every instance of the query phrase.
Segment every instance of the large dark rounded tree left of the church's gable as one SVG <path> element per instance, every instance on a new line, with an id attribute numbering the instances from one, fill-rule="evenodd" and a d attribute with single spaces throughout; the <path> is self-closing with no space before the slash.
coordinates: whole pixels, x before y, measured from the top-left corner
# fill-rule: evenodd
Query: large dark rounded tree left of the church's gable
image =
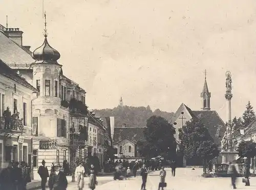
<path id="1" fill-rule="evenodd" d="M 161 116 L 151 116 L 147 120 L 145 141 L 139 141 L 139 153 L 147 158 L 164 156 L 170 158 L 176 155 L 175 128 Z"/>

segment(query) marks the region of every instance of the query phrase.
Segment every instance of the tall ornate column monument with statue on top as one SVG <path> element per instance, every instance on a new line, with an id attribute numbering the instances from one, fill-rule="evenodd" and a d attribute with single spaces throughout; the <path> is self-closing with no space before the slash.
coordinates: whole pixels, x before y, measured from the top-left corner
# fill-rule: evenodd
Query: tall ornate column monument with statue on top
<path id="1" fill-rule="evenodd" d="M 232 79 L 231 73 L 229 71 L 226 72 L 226 93 L 225 99 L 227 102 L 227 121 L 225 125 L 225 134 L 221 141 L 221 155 L 222 155 L 222 163 L 228 163 L 236 159 L 237 151 L 236 146 L 234 144 L 234 127 L 231 124 L 231 99 L 233 94 L 232 90 Z"/>

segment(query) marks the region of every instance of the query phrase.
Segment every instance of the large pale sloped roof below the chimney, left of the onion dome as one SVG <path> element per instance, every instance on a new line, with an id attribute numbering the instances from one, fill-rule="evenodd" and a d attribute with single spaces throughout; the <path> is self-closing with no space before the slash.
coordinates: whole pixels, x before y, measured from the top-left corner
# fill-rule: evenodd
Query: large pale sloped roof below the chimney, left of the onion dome
<path id="1" fill-rule="evenodd" d="M 0 31 L 0 59 L 6 64 L 31 64 L 32 52 L 9 39 Z"/>

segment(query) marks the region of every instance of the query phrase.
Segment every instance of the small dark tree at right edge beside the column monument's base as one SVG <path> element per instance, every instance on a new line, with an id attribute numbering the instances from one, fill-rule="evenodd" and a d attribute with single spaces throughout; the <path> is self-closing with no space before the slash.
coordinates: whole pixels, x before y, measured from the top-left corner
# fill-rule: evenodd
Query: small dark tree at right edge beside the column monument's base
<path id="1" fill-rule="evenodd" d="M 241 158 L 247 157 L 247 163 L 250 162 L 250 158 L 256 156 L 256 143 L 252 140 L 244 141 L 242 140 L 238 146 L 238 155 Z"/>

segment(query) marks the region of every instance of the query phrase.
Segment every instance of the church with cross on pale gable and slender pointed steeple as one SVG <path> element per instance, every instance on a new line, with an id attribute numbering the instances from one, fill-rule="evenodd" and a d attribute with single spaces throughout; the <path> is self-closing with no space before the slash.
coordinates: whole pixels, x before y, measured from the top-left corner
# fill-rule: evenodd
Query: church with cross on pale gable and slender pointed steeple
<path id="1" fill-rule="evenodd" d="M 210 109 L 211 93 L 208 90 L 206 78 L 200 95 L 202 98 L 202 110 L 191 110 L 188 106 L 182 103 L 175 112 L 172 121 L 170 122 L 176 128 L 175 138 L 179 144 L 179 129 L 182 128 L 186 122 L 191 121 L 192 118 L 198 118 L 198 120 L 207 127 L 210 135 L 214 139 L 214 142 L 221 148 L 221 139 L 225 133 L 225 124 L 217 111 Z M 218 162 L 221 163 L 221 158 L 218 158 Z M 190 164 L 189 160 L 187 163 Z M 185 160 L 183 163 L 179 164 L 186 165 Z"/>

